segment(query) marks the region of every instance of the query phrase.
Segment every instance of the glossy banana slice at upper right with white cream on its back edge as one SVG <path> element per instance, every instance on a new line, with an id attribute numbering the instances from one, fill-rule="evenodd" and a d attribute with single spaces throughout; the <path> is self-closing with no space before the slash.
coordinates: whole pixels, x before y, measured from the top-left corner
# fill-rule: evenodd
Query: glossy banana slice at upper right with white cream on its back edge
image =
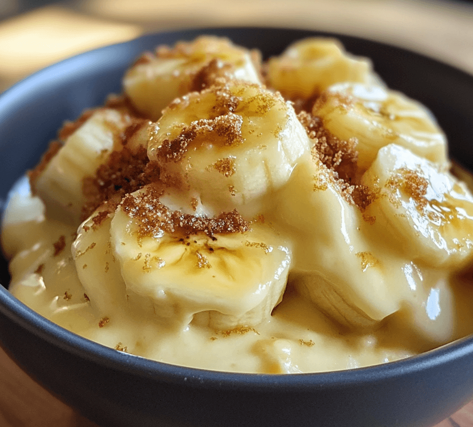
<path id="1" fill-rule="evenodd" d="M 361 83 L 331 86 L 312 114 L 341 140 L 356 138 L 358 167 L 365 171 L 379 148 L 396 143 L 427 160 L 448 166 L 447 140 L 431 113 L 399 92 Z"/>

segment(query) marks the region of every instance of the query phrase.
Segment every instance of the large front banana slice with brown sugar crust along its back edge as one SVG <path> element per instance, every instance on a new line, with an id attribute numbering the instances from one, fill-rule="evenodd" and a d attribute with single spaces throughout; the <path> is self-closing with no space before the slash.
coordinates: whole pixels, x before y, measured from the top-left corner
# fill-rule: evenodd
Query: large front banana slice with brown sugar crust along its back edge
<path id="1" fill-rule="evenodd" d="M 236 213 L 172 212 L 147 186 L 128 194 L 111 223 L 127 292 L 148 297 L 156 314 L 215 330 L 256 326 L 281 301 L 290 249 L 268 226 L 251 229 Z"/>

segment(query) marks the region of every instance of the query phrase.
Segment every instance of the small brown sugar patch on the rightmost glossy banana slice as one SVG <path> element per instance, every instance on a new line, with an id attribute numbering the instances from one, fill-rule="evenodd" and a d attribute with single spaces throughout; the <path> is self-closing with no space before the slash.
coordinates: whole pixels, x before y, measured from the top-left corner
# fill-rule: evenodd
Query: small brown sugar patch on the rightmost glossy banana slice
<path id="1" fill-rule="evenodd" d="M 416 208 L 423 211 L 427 206 L 428 200 L 426 198 L 428 181 L 426 178 L 420 176 L 415 170 L 406 168 L 397 169 L 385 184 L 385 187 L 392 192 L 396 190 L 404 191 L 411 197 Z M 395 199 L 390 197 L 392 203 L 395 204 Z"/>

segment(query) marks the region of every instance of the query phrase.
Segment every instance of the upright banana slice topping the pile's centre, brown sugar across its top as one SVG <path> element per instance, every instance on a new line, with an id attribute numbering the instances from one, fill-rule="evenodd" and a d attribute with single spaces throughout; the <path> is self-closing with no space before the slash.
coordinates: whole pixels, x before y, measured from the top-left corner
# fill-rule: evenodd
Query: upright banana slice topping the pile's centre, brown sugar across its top
<path id="1" fill-rule="evenodd" d="M 196 190 L 215 212 L 281 187 L 310 144 L 281 95 L 244 82 L 176 100 L 151 134 L 148 157 L 162 179 Z"/>

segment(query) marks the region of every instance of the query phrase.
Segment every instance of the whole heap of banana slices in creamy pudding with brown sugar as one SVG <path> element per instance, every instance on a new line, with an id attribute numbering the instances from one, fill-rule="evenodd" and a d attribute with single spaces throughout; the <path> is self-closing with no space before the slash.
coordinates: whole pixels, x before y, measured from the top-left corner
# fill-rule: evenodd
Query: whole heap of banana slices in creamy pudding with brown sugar
<path id="1" fill-rule="evenodd" d="M 473 196 L 428 109 L 337 40 L 145 52 L 11 191 L 11 293 L 130 355 L 349 369 L 473 332 Z"/>

